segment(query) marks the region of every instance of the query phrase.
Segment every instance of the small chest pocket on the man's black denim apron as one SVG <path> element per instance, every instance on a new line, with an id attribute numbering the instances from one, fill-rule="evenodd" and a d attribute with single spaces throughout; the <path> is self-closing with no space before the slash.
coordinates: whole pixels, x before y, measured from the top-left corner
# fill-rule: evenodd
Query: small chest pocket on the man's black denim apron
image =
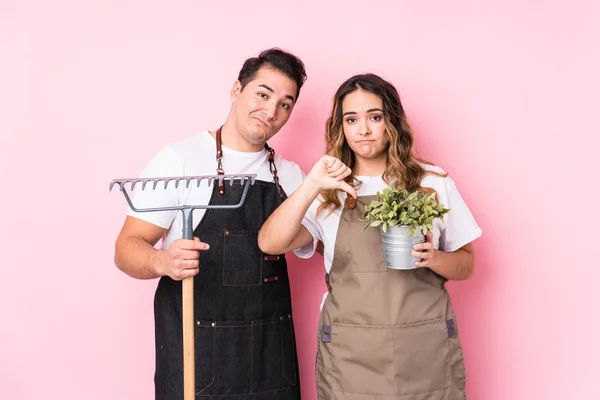
<path id="1" fill-rule="evenodd" d="M 258 248 L 258 231 L 225 229 L 223 233 L 223 286 L 259 286 L 263 253 Z"/>

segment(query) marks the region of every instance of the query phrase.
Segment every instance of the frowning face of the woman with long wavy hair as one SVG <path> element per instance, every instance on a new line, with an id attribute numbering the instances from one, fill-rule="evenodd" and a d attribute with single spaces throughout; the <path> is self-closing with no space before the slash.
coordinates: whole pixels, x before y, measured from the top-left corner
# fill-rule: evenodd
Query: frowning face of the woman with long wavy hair
<path id="1" fill-rule="evenodd" d="M 342 102 L 342 127 L 359 166 L 380 164 L 387 159 L 389 141 L 379 96 L 361 89 L 346 95 Z"/>

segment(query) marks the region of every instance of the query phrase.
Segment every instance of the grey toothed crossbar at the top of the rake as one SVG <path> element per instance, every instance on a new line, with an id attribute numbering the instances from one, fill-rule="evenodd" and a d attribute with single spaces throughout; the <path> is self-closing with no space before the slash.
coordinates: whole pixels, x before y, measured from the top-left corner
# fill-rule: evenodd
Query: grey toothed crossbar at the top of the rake
<path id="1" fill-rule="evenodd" d="M 218 182 L 219 185 L 223 185 L 224 181 L 229 181 L 229 185 L 232 186 L 235 181 L 239 181 L 239 184 L 250 181 L 250 184 L 254 184 L 256 174 L 233 174 L 233 175 L 198 175 L 198 176 L 175 176 L 175 177 L 163 177 L 163 178 L 126 178 L 126 179 L 115 179 L 113 180 L 108 190 L 111 191 L 113 186 L 118 185 L 119 190 L 125 191 L 126 184 L 130 184 L 129 190 L 134 190 L 135 186 L 139 183 L 142 184 L 142 190 L 146 188 L 146 185 L 150 184 L 152 190 L 155 190 L 160 182 L 164 182 L 164 189 L 167 189 L 171 181 L 175 182 L 175 188 L 179 187 L 179 184 L 185 182 L 185 187 L 189 188 L 192 181 L 196 181 L 196 187 L 200 186 L 203 180 L 208 181 L 208 185 L 215 184 Z"/>

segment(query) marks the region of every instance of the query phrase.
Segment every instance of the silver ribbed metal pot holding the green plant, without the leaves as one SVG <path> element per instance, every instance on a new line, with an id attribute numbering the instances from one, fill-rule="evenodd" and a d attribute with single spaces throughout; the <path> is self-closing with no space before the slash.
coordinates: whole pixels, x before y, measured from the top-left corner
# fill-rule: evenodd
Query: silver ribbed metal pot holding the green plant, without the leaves
<path id="1" fill-rule="evenodd" d="M 417 268 L 415 262 L 422 261 L 421 258 L 413 257 L 411 253 L 415 244 L 425 241 L 425 236 L 421 230 L 417 231 L 417 236 L 406 235 L 407 229 L 408 226 L 389 225 L 387 232 L 381 229 L 381 242 L 388 268 L 414 269 Z"/>

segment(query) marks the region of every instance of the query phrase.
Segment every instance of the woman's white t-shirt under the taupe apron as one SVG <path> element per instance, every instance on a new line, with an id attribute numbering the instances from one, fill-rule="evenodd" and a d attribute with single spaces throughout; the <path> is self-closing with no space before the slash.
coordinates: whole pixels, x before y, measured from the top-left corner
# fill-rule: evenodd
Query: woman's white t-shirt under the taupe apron
<path id="1" fill-rule="evenodd" d="M 423 165 L 423 167 L 426 170 L 444 173 L 439 167 L 431 165 Z M 357 176 L 356 178 L 362 181 L 362 185 L 357 191 L 359 196 L 375 195 L 378 191 L 381 192 L 388 187 L 381 175 Z M 446 252 L 455 251 L 481 236 L 481 229 L 477 226 L 475 218 L 462 199 L 452 178 L 427 174 L 423 177 L 421 186 L 434 189 L 438 195 L 438 202 L 451 209 L 444 216 L 443 222 L 439 218 L 433 221 L 433 244 L 436 249 Z M 342 207 L 346 197 L 346 193 L 340 191 L 339 198 Z M 322 241 L 325 270 L 329 273 L 333 263 L 335 240 L 342 208 L 338 208 L 331 214 L 329 213 L 330 210 L 323 210 L 317 217 L 316 213 L 321 200 L 322 197 L 318 197 L 313 201 L 302 220 L 302 225 L 312 235 L 313 242 L 295 250 L 294 253 L 300 258 L 310 258 L 316 250 L 317 242 Z M 323 300 L 325 300 L 326 295 L 327 293 L 323 295 Z M 323 303 L 321 303 L 321 307 L 322 305 Z"/>

